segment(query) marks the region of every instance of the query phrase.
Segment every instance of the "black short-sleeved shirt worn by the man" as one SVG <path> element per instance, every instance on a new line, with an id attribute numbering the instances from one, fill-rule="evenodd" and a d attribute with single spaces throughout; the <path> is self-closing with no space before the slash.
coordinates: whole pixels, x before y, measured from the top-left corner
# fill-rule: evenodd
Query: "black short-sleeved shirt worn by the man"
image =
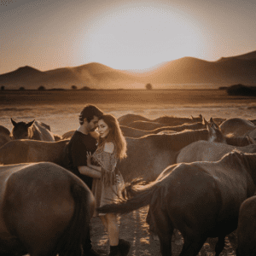
<path id="1" fill-rule="evenodd" d="M 67 146 L 67 169 L 80 177 L 89 189 L 92 187 L 92 177 L 79 172 L 78 166 L 87 166 L 87 151 L 93 154 L 96 151 L 96 138 L 85 135 L 80 131 L 75 131 Z"/>

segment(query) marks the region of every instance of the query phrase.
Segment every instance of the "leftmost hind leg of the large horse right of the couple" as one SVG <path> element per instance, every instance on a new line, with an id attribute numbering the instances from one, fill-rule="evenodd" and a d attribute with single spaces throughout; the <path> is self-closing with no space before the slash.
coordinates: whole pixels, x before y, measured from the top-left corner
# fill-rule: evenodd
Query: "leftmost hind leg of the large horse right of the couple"
<path id="1" fill-rule="evenodd" d="M 154 231 L 160 239 L 160 252 L 162 256 L 172 256 L 172 234 L 173 226 L 171 219 L 166 212 L 163 212 L 160 207 L 150 211 L 150 218 L 154 224 Z"/>

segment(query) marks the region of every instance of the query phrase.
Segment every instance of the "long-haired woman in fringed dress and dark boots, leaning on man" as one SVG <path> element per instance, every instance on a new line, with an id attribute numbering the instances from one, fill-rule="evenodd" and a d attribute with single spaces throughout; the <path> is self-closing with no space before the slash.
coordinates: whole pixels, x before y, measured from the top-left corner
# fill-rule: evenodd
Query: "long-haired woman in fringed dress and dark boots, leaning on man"
<path id="1" fill-rule="evenodd" d="M 119 127 L 118 120 L 111 114 L 103 114 L 98 121 L 98 146 L 94 154 L 87 153 L 87 166 L 92 172 L 99 172 L 100 178 L 94 178 L 92 192 L 96 198 L 96 207 L 117 199 L 125 183 L 117 170 L 118 160 L 126 157 L 125 137 Z M 130 243 L 119 239 L 119 224 L 116 214 L 95 212 L 108 230 L 110 253 L 108 256 L 126 256 Z"/>

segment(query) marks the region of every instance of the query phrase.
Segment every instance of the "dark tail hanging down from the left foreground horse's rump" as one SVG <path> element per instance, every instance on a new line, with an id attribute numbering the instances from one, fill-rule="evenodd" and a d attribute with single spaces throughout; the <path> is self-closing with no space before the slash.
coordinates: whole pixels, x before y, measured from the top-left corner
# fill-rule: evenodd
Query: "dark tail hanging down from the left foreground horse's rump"
<path id="1" fill-rule="evenodd" d="M 82 244 L 90 229 L 90 208 L 94 206 L 94 202 L 90 198 L 90 190 L 85 189 L 77 180 L 72 180 L 70 193 L 75 203 L 73 218 L 70 220 L 67 229 L 59 237 L 52 255 L 82 255 Z"/>

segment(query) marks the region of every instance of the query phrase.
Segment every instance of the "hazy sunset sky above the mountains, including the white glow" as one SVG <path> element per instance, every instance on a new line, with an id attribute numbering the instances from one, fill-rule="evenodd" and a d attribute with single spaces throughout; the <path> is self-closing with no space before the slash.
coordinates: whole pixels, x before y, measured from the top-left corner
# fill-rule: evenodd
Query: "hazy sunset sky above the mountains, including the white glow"
<path id="1" fill-rule="evenodd" d="M 90 62 L 143 69 L 256 50 L 255 0 L 0 1 L 0 74 Z"/>

